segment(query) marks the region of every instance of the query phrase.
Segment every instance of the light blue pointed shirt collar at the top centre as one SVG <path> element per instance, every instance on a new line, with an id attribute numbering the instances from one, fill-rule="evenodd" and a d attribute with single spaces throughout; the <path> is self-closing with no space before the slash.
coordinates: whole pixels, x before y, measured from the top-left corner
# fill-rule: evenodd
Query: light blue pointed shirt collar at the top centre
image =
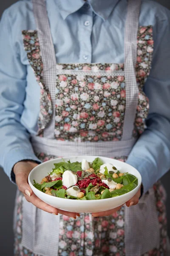
<path id="1" fill-rule="evenodd" d="M 94 13 L 106 20 L 119 0 L 88 0 Z M 60 14 L 65 20 L 68 15 L 78 11 L 84 4 L 84 0 L 57 0 Z"/>

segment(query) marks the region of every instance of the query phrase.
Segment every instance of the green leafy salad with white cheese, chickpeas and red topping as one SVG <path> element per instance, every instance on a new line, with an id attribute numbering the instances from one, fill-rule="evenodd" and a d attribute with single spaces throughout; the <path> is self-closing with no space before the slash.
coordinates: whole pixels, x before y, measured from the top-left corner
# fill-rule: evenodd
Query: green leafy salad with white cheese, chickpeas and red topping
<path id="1" fill-rule="evenodd" d="M 100 157 L 92 162 L 62 160 L 34 187 L 47 195 L 72 200 L 100 200 L 124 195 L 138 186 L 138 178 Z"/>

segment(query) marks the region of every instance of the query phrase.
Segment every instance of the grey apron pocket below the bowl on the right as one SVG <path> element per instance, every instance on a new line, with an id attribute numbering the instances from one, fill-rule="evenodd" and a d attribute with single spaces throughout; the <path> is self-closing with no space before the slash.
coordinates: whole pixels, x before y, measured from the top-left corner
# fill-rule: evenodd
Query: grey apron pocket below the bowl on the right
<path id="1" fill-rule="evenodd" d="M 153 188 L 134 207 L 125 207 L 126 256 L 141 256 L 159 248 L 160 229 Z"/>

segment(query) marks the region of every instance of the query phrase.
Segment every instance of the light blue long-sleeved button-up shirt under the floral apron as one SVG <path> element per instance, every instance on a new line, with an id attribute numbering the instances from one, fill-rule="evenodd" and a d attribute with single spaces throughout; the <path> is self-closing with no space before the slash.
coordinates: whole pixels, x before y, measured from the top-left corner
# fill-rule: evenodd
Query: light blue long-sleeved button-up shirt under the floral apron
<path id="1" fill-rule="evenodd" d="M 46 5 L 57 62 L 124 62 L 127 0 L 48 0 Z M 170 11 L 143 0 L 139 25 L 153 25 L 155 40 L 144 85 L 150 113 L 127 163 L 141 173 L 146 192 L 170 167 Z M 18 161 L 38 161 L 29 138 L 37 133 L 40 87 L 23 48 L 27 29 L 36 26 L 31 0 L 22 0 L 0 22 L 0 165 L 10 178 Z"/>

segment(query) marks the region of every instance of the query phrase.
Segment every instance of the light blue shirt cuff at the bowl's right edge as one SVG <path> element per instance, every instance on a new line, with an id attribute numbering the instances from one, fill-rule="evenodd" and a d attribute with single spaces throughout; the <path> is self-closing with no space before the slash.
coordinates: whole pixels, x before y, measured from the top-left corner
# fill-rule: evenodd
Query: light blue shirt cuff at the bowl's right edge
<path id="1" fill-rule="evenodd" d="M 129 157 L 126 163 L 136 168 L 142 176 L 143 194 L 145 194 L 157 181 L 155 174 L 152 172 L 153 164 L 145 159 L 136 157 Z"/>

